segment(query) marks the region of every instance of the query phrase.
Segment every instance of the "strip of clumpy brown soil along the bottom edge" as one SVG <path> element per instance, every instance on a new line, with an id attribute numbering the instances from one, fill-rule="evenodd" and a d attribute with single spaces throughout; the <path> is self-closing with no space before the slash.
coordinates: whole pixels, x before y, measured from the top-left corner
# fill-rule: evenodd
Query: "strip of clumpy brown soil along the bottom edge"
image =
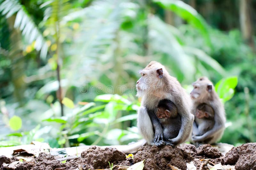
<path id="1" fill-rule="evenodd" d="M 176 166 L 181 170 L 186 170 L 186 163 L 193 161 L 197 169 L 206 170 L 209 164 L 230 164 L 235 165 L 236 170 L 256 170 L 256 143 L 248 143 L 239 147 L 232 148 L 224 157 L 218 149 L 209 144 L 201 145 L 196 148 L 191 144 L 183 144 L 179 147 L 171 146 L 142 146 L 134 159 L 126 158 L 125 154 L 116 148 L 102 149 L 92 146 L 82 152 L 80 158 L 76 158 L 66 163 L 61 163 L 54 159 L 53 156 L 40 153 L 32 161 L 24 162 L 18 165 L 16 170 L 75 170 L 77 168 L 87 170 L 107 169 L 109 163 L 113 165 L 131 166 L 134 163 L 144 161 L 144 169 L 172 169 Z M 12 163 L 17 158 L 6 158 L 0 156 L 0 166 L 3 170 L 3 163 Z M 118 169 L 116 166 L 114 169 Z"/>

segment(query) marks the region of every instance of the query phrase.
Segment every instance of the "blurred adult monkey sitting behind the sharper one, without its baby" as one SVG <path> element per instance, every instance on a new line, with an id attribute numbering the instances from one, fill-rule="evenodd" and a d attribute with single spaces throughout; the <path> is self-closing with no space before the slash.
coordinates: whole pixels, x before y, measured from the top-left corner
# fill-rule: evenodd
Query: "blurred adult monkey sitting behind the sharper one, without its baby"
<path id="1" fill-rule="evenodd" d="M 204 131 L 204 129 L 208 128 L 209 124 L 204 122 L 204 119 L 195 117 L 195 122 L 193 124 L 192 140 L 194 143 L 213 144 L 222 137 L 225 130 L 226 117 L 224 106 L 221 103 L 219 96 L 215 92 L 212 82 L 207 77 L 200 77 L 192 85 L 194 86 L 194 89 L 191 91 L 190 95 L 193 99 L 194 104 L 194 109 L 192 111 L 193 114 L 196 114 L 197 107 L 202 103 L 205 103 L 206 105 L 212 107 L 212 109 L 214 110 L 214 120 L 212 120 L 214 122 L 214 125 L 210 130 L 206 132 Z M 202 124 L 204 128 L 201 127 L 200 130 L 198 127 Z"/>

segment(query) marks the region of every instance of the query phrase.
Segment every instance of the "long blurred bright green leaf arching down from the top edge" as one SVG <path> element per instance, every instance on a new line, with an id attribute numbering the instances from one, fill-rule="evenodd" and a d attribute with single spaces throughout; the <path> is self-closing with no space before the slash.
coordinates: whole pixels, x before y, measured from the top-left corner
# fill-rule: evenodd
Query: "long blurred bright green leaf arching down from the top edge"
<path id="1" fill-rule="evenodd" d="M 164 9 L 173 11 L 175 14 L 186 20 L 189 24 L 196 27 L 204 36 L 206 43 L 212 46 L 208 33 L 208 25 L 204 18 L 196 12 L 194 8 L 180 0 L 153 0 Z"/>

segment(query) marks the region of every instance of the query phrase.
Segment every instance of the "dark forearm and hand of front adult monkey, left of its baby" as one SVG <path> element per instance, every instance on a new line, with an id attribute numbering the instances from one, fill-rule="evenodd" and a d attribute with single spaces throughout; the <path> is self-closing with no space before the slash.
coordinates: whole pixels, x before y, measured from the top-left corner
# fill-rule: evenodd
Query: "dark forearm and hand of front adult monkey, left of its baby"
<path id="1" fill-rule="evenodd" d="M 148 110 L 148 116 L 150 117 L 151 123 L 155 129 L 154 144 L 157 146 L 164 145 L 163 128 L 156 117 L 156 114 L 153 112 L 153 110 Z"/>

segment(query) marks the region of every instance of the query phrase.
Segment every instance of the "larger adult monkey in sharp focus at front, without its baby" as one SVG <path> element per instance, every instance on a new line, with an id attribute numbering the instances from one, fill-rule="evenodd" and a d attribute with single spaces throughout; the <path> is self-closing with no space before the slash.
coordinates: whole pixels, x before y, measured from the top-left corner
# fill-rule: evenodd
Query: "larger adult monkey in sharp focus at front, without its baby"
<path id="1" fill-rule="evenodd" d="M 176 78 L 170 76 L 165 67 L 151 61 L 140 70 L 137 81 L 137 96 L 142 97 L 138 110 L 138 129 L 149 145 L 178 145 L 185 142 L 192 131 L 194 115 L 191 114 L 191 99 Z M 168 99 L 177 107 L 181 116 L 181 127 L 177 137 L 163 141 L 163 128 L 156 117 L 155 110 L 160 100 Z"/>

